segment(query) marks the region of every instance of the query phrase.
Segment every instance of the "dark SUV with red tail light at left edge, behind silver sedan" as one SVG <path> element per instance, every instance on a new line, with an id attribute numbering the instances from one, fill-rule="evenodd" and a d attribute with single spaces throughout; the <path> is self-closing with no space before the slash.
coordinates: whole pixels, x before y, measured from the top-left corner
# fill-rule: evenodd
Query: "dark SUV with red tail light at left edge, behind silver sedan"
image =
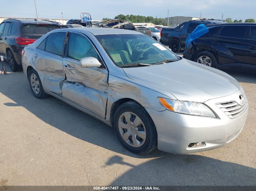
<path id="1" fill-rule="evenodd" d="M 13 72 L 22 70 L 21 54 L 28 44 L 59 25 L 36 19 L 6 19 L 0 24 L 0 55 L 7 59 Z"/>

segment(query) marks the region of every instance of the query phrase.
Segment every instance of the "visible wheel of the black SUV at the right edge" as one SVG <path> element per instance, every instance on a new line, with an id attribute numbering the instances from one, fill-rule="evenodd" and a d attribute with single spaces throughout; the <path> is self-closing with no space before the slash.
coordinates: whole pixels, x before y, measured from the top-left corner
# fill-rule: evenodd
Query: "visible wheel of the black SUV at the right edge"
<path id="1" fill-rule="evenodd" d="M 215 56 L 207 51 L 197 54 L 194 58 L 194 62 L 198 62 L 200 64 L 207 65 L 213 68 L 215 68 L 217 65 L 217 60 Z"/>

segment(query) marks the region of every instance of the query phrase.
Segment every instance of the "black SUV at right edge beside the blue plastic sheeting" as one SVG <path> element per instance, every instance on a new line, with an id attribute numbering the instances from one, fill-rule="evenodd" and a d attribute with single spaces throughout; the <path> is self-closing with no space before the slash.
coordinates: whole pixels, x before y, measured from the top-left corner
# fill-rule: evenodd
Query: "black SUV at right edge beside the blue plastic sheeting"
<path id="1" fill-rule="evenodd" d="M 183 58 L 219 69 L 256 72 L 256 24 L 207 25 L 209 32 L 186 46 Z"/>

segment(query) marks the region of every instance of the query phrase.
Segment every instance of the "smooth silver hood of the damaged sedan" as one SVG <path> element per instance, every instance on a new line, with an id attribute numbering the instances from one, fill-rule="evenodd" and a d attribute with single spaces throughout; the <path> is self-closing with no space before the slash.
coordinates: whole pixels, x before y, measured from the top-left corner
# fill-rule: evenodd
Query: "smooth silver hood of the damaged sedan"
<path id="1" fill-rule="evenodd" d="M 231 95 L 241 88 L 227 73 L 186 59 L 123 70 L 128 78 L 169 92 L 178 100 L 203 103 Z"/>

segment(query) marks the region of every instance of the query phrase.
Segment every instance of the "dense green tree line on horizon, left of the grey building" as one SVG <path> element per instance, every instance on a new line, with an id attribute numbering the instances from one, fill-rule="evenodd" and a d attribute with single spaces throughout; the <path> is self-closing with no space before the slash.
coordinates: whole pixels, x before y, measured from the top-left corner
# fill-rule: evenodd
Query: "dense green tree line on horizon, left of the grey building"
<path id="1" fill-rule="evenodd" d="M 108 20 L 109 18 L 103 18 L 102 20 Z M 131 21 L 132 23 L 153 23 L 156 25 L 165 25 L 165 19 L 164 18 L 154 18 L 151 16 L 145 17 L 145 16 L 140 16 L 140 15 L 133 15 L 133 14 L 128 14 L 128 15 L 123 15 L 123 14 L 118 14 L 115 16 L 114 19 L 122 19 L 124 21 Z"/>

